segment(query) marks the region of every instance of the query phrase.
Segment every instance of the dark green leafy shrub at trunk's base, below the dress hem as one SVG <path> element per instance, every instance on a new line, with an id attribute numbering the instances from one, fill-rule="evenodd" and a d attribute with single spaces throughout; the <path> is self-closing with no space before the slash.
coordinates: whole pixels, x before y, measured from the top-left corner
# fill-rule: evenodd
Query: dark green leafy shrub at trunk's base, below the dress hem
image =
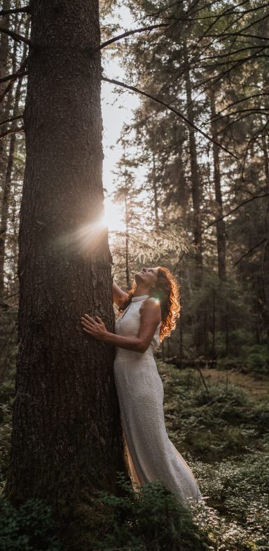
<path id="1" fill-rule="evenodd" d="M 106 526 L 95 541 L 98 550 L 209 551 L 209 540 L 195 525 L 191 512 L 160 482 L 145 484 L 134 492 L 118 474 L 123 496 L 100 492 Z"/>

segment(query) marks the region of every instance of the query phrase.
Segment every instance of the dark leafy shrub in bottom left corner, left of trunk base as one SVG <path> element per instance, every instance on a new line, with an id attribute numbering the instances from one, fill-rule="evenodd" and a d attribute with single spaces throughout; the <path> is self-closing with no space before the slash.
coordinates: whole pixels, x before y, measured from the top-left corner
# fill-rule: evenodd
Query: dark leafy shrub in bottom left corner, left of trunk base
<path id="1" fill-rule="evenodd" d="M 0 551 L 62 551 L 50 507 L 31 499 L 15 508 L 0 496 Z"/>

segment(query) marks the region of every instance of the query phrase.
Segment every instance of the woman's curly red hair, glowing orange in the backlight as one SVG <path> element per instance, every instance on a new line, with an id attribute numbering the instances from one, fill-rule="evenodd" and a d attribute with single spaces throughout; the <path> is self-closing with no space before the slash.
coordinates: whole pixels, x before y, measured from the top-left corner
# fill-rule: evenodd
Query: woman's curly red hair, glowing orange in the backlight
<path id="1" fill-rule="evenodd" d="M 180 294 L 179 284 L 174 278 L 170 270 L 163 266 L 158 266 L 158 277 L 156 287 L 151 289 L 150 296 L 157 298 L 160 302 L 160 310 L 162 321 L 160 324 L 160 341 L 165 337 L 169 337 L 177 325 L 177 318 L 180 313 Z M 128 297 L 119 301 L 118 310 L 123 312 L 125 308 L 132 302 L 132 297 L 135 294 L 137 287 L 136 282 L 132 284 L 132 288 L 128 291 Z"/>

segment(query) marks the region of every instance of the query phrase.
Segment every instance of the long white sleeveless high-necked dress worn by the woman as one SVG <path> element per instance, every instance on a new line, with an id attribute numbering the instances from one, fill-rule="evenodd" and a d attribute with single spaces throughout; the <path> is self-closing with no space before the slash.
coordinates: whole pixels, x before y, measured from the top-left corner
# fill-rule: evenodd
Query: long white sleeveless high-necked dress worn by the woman
<path id="1" fill-rule="evenodd" d="M 149 295 L 132 297 L 130 305 L 116 320 L 115 332 L 137 337 L 140 308 Z M 142 486 L 158 479 L 182 505 L 198 502 L 202 494 L 186 461 L 168 438 L 163 413 L 163 383 L 154 351 L 159 347 L 160 324 L 146 352 L 117 347 L 114 378 L 125 437 L 127 462 L 132 482 Z"/>

